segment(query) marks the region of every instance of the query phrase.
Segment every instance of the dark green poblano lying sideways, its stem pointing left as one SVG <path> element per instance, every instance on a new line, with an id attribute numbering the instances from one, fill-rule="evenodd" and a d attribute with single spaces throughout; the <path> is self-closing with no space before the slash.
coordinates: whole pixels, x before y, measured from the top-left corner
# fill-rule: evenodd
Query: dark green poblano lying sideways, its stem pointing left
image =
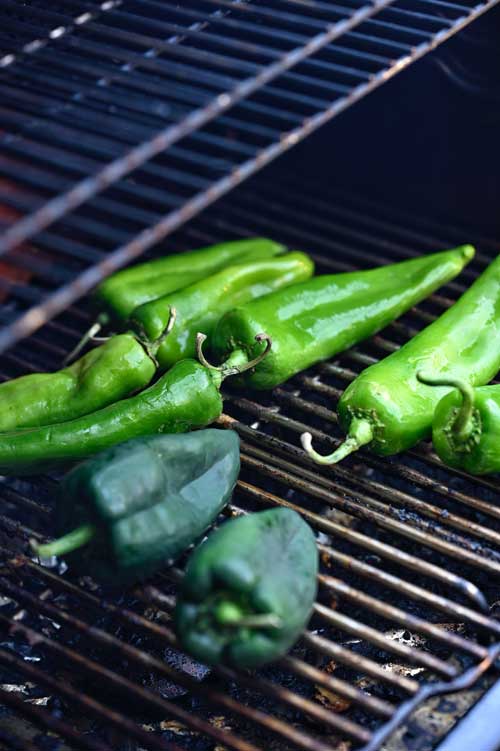
<path id="1" fill-rule="evenodd" d="M 231 430 L 136 438 L 75 467 L 61 484 L 63 535 L 32 543 L 85 574 L 124 584 L 175 560 L 231 497 L 240 470 Z"/>

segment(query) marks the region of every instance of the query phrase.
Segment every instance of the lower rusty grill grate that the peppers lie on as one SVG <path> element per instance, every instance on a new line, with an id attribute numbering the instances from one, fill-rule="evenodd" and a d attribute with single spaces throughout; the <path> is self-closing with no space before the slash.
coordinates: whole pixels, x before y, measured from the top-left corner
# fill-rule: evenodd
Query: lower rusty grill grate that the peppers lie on
<path id="1" fill-rule="evenodd" d="M 361 452 L 318 468 L 298 436 L 307 429 L 319 443 L 336 445 L 333 410 L 345 385 L 451 304 L 499 247 L 359 196 L 324 188 L 320 196 L 293 175 L 263 177 L 174 234 L 172 248 L 264 234 L 312 252 L 323 271 L 464 240 L 476 242 L 478 255 L 457 280 L 362 346 L 271 394 L 225 395 L 220 425 L 242 440 L 242 475 L 227 513 L 295 508 L 321 551 L 312 621 L 275 666 L 205 675 L 176 652 L 170 613 L 182 566 L 116 600 L 71 572 L 38 565 L 27 543 L 50 534 L 57 478 L 4 479 L 0 700 L 71 748 L 109 751 L 126 737 L 155 751 L 374 751 L 422 701 L 477 686 L 481 676 L 493 679 L 487 671 L 500 643 L 496 481 L 445 469 L 426 445 L 394 459 Z M 56 366 L 89 316 L 85 306 L 72 307 L 48 322 L 3 356 L 1 375 Z M 449 711 L 456 719 L 465 707 Z M 21 740 L 9 732 L 1 730 L 0 748 L 43 748 L 33 731 Z M 404 735 L 399 740 L 403 749 Z"/>

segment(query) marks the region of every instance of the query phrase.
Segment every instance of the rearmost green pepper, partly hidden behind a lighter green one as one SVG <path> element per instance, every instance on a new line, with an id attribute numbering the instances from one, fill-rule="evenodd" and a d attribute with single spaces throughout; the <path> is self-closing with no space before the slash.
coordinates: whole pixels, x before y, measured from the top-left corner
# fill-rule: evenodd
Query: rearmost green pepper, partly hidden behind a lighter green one
<path id="1" fill-rule="evenodd" d="M 98 308 L 124 322 L 139 305 L 168 295 L 234 263 L 272 258 L 285 251 L 273 240 L 251 237 L 158 258 L 118 271 L 94 293 Z"/>

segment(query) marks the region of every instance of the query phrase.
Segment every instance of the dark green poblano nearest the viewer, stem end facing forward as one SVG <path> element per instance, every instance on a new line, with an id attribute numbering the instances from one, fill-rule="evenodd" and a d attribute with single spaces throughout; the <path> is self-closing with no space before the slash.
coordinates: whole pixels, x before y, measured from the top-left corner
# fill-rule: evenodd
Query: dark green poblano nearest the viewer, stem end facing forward
<path id="1" fill-rule="evenodd" d="M 238 668 L 281 657 L 309 620 L 317 572 L 314 535 L 295 511 L 226 522 L 188 561 L 175 610 L 183 648 Z"/>

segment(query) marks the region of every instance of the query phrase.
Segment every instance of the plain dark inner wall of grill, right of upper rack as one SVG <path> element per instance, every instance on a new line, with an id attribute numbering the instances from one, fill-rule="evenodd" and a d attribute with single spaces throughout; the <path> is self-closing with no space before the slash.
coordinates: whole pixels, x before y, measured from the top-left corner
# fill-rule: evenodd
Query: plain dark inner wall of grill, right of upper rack
<path id="1" fill-rule="evenodd" d="M 500 238 L 500 7 L 284 160 L 335 188 Z"/>

